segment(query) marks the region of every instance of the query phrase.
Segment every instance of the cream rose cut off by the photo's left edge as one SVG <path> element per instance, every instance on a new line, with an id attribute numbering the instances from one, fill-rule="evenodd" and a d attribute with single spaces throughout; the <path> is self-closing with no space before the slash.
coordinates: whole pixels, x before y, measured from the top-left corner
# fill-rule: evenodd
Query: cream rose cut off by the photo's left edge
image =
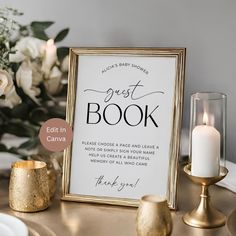
<path id="1" fill-rule="evenodd" d="M 0 70 L 0 96 L 5 95 L 5 99 L 0 99 L 0 106 L 14 107 L 21 102 L 17 95 L 11 75 Z"/>

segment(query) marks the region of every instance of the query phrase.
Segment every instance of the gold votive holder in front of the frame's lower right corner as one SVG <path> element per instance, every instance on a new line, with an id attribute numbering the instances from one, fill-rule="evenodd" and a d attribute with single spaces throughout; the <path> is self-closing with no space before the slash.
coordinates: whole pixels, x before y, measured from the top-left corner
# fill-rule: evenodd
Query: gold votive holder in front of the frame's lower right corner
<path id="1" fill-rule="evenodd" d="M 141 198 L 137 214 L 137 236 L 168 236 L 172 231 L 172 218 L 167 200 L 147 195 Z"/>

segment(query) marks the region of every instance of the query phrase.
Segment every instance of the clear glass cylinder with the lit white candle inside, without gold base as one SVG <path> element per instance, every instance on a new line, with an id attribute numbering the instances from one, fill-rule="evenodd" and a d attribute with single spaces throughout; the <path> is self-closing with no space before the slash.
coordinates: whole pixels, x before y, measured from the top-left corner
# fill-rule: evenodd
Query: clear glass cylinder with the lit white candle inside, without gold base
<path id="1" fill-rule="evenodd" d="M 191 174 L 219 175 L 226 159 L 226 95 L 204 92 L 191 96 L 190 159 Z"/>

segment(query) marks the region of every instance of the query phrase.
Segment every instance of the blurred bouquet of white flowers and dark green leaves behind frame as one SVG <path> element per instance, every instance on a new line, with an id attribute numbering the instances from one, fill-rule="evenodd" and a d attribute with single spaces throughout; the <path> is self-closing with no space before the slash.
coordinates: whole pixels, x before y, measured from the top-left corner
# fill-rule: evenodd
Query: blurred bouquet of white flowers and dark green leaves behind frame
<path id="1" fill-rule="evenodd" d="M 69 29 L 54 39 L 46 30 L 51 21 L 21 25 L 22 13 L 0 8 L 0 151 L 26 155 L 35 148 L 45 120 L 64 118 L 68 71 L 68 48 L 56 47 Z M 18 147 L 1 142 L 5 134 L 27 137 Z"/>

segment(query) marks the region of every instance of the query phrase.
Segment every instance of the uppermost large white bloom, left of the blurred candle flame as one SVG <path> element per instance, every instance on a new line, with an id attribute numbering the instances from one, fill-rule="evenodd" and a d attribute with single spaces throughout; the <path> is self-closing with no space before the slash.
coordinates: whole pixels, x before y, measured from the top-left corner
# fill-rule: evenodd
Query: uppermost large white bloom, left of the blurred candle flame
<path id="1" fill-rule="evenodd" d="M 11 62 L 22 62 L 26 59 L 35 59 L 42 57 L 42 47 L 45 41 L 34 38 L 25 37 L 20 39 L 15 46 L 16 53 L 9 55 Z"/>

